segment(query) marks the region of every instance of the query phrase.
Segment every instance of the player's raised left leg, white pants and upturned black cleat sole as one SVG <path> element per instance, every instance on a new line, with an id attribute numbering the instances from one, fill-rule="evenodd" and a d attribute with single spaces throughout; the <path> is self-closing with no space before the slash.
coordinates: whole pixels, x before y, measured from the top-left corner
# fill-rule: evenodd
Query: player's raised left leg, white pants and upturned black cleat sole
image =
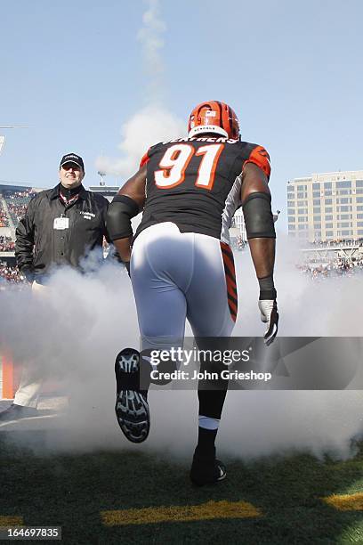
<path id="1" fill-rule="evenodd" d="M 149 227 L 136 239 L 131 278 L 142 354 L 181 345 L 187 310 L 182 287 L 190 279 L 191 258 L 190 245 L 182 242 L 173 224 Z M 134 353 L 122 351 L 117 356 L 116 412 L 126 437 L 141 443 L 149 434 L 147 389 L 151 366 L 147 355 L 136 358 Z"/>

